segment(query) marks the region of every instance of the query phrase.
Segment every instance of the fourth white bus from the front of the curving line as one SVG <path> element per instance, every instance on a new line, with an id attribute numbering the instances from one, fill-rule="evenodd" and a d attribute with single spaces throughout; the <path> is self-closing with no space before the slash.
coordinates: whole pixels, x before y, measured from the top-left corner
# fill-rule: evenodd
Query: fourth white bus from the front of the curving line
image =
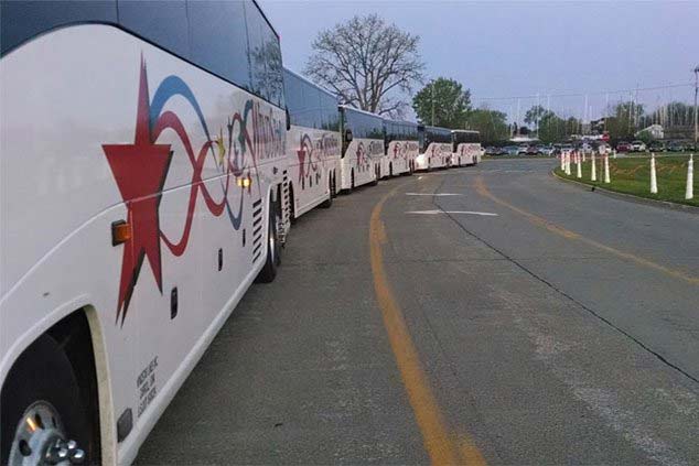
<path id="1" fill-rule="evenodd" d="M 415 171 L 418 156 L 418 123 L 384 119 L 386 156 L 381 159 L 381 175 L 394 176 Z"/>

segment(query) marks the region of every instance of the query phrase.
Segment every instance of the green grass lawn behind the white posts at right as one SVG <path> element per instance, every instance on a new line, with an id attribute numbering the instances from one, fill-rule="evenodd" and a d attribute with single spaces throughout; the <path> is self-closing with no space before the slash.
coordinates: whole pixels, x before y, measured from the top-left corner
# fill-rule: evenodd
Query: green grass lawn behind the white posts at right
<path id="1" fill-rule="evenodd" d="M 570 176 L 567 176 L 566 173 L 560 170 L 560 164 L 556 167 L 556 174 L 563 178 L 574 180 L 589 185 L 601 186 L 605 189 L 616 191 L 619 193 L 699 206 L 699 174 L 697 173 L 699 156 L 695 156 L 695 198 L 691 201 L 685 199 L 688 162 L 688 156 L 668 155 L 657 156 L 655 159 L 658 194 L 650 194 L 650 160 L 646 156 L 626 159 L 610 158 L 611 184 L 602 183 L 604 175 L 603 159 L 596 160 L 598 181 L 594 183 L 590 181 L 592 167 L 590 159 L 582 164 L 581 180 L 578 180 L 576 176 L 577 167 L 572 162 L 570 164 Z"/>

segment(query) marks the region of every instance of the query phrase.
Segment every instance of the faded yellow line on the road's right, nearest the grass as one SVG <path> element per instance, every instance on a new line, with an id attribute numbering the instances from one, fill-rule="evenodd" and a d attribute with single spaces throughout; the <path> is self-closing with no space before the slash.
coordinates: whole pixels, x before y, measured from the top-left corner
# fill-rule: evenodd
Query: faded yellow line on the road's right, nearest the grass
<path id="1" fill-rule="evenodd" d="M 612 248 L 611 246 L 606 246 L 602 242 L 595 241 L 594 239 L 590 239 L 590 238 L 585 238 L 582 235 L 580 235 L 579 232 L 576 231 L 571 231 L 569 229 L 566 229 L 559 225 L 556 225 L 549 220 L 547 220 L 544 217 L 539 217 L 538 215 L 531 214 L 527 210 L 523 210 L 519 207 L 515 207 L 514 205 L 509 204 L 506 201 L 501 199 L 499 197 L 495 196 L 493 193 L 490 192 L 490 189 L 487 188 L 487 186 L 485 186 L 485 183 L 483 181 L 482 176 L 476 177 L 475 180 L 475 191 L 476 193 L 478 193 L 481 196 L 483 197 L 487 197 L 488 199 L 493 201 L 496 204 L 499 204 L 504 207 L 507 207 L 508 209 L 524 216 L 525 218 L 527 218 L 527 220 L 529 220 L 533 225 L 536 225 L 538 227 L 541 228 L 546 228 L 547 230 L 555 232 L 559 236 L 562 236 L 564 238 L 571 239 L 571 240 L 578 240 L 581 241 L 585 245 L 592 246 L 594 248 L 601 249 L 605 252 L 609 252 L 611 254 L 614 254 L 619 258 L 628 260 L 631 262 L 635 262 L 639 265 L 644 265 L 648 269 L 653 269 L 656 270 L 658 272 L 665 273 L 669 277 L 674 277 L 676 279 L 680 279 L 682 281 L 686 281 L 687 283 L 690 284 L 695 284 L 695 285 L 699 285 L 699 278 L 698 277 L 693 277 L 693 275 L 689 275 L 685 272 L 682 272 L 681 270 L 676 270 L 676 269 L 670 269 L 669 267 L 665 267 L 659 263 L 653 262 L 652 260 L 638 257 L 636 254 L 633 254 L 631 252 L 626 252 L 626 251 L 622 251 L 619 250 L 616 248 Z"/>

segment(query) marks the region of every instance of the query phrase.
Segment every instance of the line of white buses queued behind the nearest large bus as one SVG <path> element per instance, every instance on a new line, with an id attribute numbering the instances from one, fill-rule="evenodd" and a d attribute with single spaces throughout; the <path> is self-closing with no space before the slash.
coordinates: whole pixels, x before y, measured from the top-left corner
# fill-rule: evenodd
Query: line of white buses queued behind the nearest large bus
<path id="1" fill-rule="evenodd" d="M 477 131 L 391 120 L 350 106 L 284 68 L 291 218 L 337 193 L 415 171 L 478 163 Z"/>

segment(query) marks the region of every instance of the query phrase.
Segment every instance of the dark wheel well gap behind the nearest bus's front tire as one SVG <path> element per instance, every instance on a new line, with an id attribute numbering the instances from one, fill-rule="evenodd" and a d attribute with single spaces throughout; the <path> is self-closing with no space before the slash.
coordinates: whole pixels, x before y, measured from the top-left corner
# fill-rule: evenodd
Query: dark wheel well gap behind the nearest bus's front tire
<path id="1" fill-rule="evenodd" d="M 73 366 L 73 372 L 80 388 L 80 397 L 85 400 L 94 438 L 100 438 L 99 432 L 99 395 L 97 389 L 97 370 L 93 338 L 85 310 L 77 310 L 67 315 L 46 334 L 56 340 Z M 99 451 L 99 446 L 97 446 Z"/>

